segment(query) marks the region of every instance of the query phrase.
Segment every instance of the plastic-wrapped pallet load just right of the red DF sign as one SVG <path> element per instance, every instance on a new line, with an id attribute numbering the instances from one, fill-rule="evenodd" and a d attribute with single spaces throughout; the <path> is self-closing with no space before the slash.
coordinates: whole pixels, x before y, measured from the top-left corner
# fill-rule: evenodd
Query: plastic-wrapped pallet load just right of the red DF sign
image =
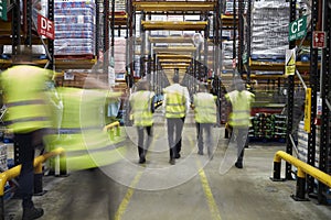
<path id="1" fill-rule="evenodd" d="M 95 3 L 84 0 L 55 0 L 55 56 L 95 55 Z"/>

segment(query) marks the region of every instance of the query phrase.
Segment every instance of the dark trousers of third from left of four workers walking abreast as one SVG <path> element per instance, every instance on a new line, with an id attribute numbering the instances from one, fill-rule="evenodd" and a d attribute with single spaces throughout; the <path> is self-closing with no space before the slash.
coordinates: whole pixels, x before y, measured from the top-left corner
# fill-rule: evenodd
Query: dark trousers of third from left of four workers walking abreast
<path id="1" fill-rule="evenodd" d="M 197 140 L 197 150 L 200 153 L 203 153 L 203 133 L 205 132 L 206 138 L 206 147 L 209 155 L 212 154 L 213 150 L 213 138 L 212 138 L 212 123 L 197 123 L 196 122 L 196 140 Z"/>

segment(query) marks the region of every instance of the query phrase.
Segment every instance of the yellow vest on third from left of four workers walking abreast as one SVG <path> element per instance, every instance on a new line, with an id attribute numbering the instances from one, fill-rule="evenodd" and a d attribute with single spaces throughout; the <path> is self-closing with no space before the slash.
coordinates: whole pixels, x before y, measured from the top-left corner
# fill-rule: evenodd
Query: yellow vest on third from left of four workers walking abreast
<path id="1" fill-rule="evenodd" d="M 216 123 L 215 96 L 197 92 L 193 96 L 194 119 L 197 123 Z"/>

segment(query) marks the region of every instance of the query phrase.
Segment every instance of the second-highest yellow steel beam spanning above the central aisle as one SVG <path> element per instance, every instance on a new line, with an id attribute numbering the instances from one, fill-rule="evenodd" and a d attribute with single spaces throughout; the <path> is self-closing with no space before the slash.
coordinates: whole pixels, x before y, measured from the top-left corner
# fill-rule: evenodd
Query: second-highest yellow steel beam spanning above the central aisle
<path id="1" fill-rule="evenodd" d="M 203 31 L 206 21 L 141 21 L 145 30 Z"/>

